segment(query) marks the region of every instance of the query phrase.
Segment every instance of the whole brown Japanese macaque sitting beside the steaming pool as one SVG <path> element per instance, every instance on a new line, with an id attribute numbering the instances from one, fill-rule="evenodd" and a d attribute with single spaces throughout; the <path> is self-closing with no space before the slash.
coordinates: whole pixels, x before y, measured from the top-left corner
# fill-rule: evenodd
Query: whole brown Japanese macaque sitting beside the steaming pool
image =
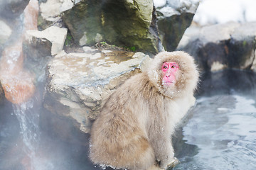
<path id="1" fill-rule="evenodd" d="M 108 98 L 92 125 L 90 159 L 116 169 L 167 169 L 177 164 L 171 135 L 195 103 L 198 70 L 186 52 L 160 52 L 148 71 Z"/>

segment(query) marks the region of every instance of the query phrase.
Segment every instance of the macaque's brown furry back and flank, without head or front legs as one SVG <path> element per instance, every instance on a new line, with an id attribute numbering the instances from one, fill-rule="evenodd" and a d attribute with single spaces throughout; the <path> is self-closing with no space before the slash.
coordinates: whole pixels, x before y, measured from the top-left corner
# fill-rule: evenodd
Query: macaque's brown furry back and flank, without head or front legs
<path id="1" fill-rule="evenodd" d="M 154 152 L 146 132 L 147 101 L 152 96 L 145 92 L 152 91 L 152 86 L 145 73 L 137 74 L 108 98 L 92 125 L 92 162 L 117 168 L 129 168 L 127 164 L 134 166 L 145 161 L 154 164 Z"/>

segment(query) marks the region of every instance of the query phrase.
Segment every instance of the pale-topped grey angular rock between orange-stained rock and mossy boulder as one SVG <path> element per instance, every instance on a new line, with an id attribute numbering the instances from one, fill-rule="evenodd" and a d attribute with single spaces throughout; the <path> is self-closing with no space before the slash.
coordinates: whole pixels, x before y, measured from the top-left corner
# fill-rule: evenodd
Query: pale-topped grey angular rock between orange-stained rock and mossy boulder
<path id="1" fill-rule="evenodd" d="M 26 55 L 26 67 L 36 74 L 36 82 L 46 79 L 46 64 L 63 50 L 67 28 L 51 26 L 46 30 L 27 30 L 23 41 L 23 53 Z"/>

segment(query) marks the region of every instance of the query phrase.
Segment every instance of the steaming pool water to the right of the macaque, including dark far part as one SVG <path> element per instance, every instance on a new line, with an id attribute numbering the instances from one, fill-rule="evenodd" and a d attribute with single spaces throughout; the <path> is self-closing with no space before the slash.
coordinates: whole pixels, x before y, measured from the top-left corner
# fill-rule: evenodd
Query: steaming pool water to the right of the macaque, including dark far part
<path id="1" fill-rule="evenodd" d="M 176 153 L 194 154 L 178 156 L 174 169 L 256 169 L 255 78 L 237 71 L 206 77 Z"/>

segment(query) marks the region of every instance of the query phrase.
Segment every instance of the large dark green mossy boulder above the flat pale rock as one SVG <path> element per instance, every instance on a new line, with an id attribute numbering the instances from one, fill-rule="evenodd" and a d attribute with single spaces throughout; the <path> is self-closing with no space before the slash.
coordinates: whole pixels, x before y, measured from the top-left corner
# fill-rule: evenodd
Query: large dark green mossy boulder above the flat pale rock
<path id="1" fill-rule="evenodd" d="M 107 41 L 155 53 L 159 38 L 157 27 L 151 24 L 152 13 L 152 0 L 82 0 L 62 18 L 78 45 Z"/>

